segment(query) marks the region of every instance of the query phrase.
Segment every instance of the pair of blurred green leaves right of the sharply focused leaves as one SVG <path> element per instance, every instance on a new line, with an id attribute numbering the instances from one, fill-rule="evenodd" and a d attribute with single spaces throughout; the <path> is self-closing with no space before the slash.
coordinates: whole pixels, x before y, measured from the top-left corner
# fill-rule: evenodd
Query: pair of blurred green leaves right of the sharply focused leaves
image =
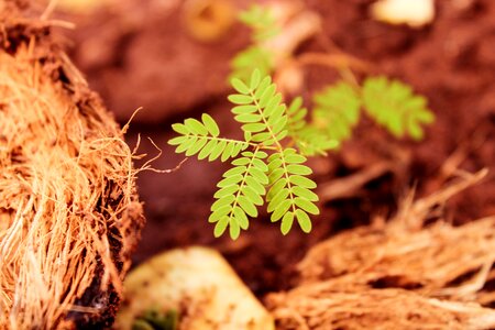
<path id="1" fill-rule="evenodd" d="M 366 78 L 363 87 L 339 81 L 316 94 L 314 102 L 314 121 L 308 127 L 319 128 L 329 139 L 339 142 L 352 136 L 362 107 L 371 119 L 396 138 L 421 140 L 421 124 L 435 120 L 422 96 L 387 77 Z"/>

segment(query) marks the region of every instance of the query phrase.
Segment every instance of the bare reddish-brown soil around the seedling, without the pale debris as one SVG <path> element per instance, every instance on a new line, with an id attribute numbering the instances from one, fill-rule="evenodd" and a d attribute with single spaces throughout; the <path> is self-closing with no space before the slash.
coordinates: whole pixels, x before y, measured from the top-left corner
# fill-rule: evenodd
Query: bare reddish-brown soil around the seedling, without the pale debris
<path id="1" fill-rule="evenodd" d="M 160 1 L 151 1 L 150 8 L 155 2 Z M 452 167 L 495 169 L 495 2 L 437 1 L 435 21 L 419 30 L 372 20 L 371 2 L 306 1 L 321 14 L 324 36 L 306 42 L 297 52 L 324 51 L 332 44 L 369 62 L 374 74 L 410 84 L 429 99 L 437 116 L 427 138 L 420 143 L 396 141 L 364 120 L 340 153 L 312 161 L 320 186 L 380 162 L 394 166 L 352 196 L 322 202 L 322 215 L 314 219 L 310 234 L 295 228 L 283 237 L 278 226 L 262 215 L 238 241 L 215 239 L 207 218 L 224 167 L 190 158 L 172 174 L 142 173 L 139 189 L 147 224 L 134 255 L 136 263 L 165 249 L 213 246 L 262 296 L 290 286 L 295 264 L 316 242 L 369 223 L 375 216 L 391 215 L 410 187 L 424 196 L 438 189 Z M 124 10 L 106 11 L 79 22 L 73 37 L 74 58 L 122 123 L 135 108 L 144 107 L 127 135 L 129 143 L 133 145 L 141 134 L 141 150 L 153 155 L 157 152 L 144 138 L 153 139 L 163 148 L 154 167 L 164 169 L 183 160 L 166 145 L 173 122 L 208 111 L 226 134 L 239 134 L 230 119 L 224 81 L 229 58 L 248 43 L 245 29 L 234 24 L 219 40 L 202 43 L 185 32 L 183 7 L 167 13 L 143 12 L 146 7 L 141 1 L 124 3 L 127 15 L 133 12 L 131 19 L 122 19 Z M 101 54 L 95 56 L 92 51 Z M 302 95 L 336 77 L 331 69 L 316 66 L 305 74 Z M 494 215 L 494 175 L 453 198 L 442 211 L 454 223 Z"/>

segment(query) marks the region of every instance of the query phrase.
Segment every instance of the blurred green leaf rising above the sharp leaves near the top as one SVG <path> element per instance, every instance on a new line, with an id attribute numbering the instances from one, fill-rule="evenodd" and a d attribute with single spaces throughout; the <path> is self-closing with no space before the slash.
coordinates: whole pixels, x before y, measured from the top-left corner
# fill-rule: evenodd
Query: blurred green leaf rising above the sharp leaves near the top
<path id="1" fill-rule="evenodd" d="M 266 7 L 253 4 L 241 12 L 239 19 L 251 28 L 253 44 L 232 58 L 230 78 L 248 80 L 254 69 L 258 69 L 262 76 L 270 75 L 274 68 L 274 59 L 273 52 L 265 43 L 279 33 L 275 18 Z"/>

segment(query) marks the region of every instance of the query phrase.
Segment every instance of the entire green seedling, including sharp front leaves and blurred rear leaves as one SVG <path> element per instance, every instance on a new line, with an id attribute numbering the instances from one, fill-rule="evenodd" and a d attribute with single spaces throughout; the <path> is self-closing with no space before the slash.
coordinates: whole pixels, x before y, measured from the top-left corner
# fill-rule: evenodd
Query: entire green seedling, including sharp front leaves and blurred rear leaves
<path id="1" fill-rule="evenodd" d="M 232 114 L 244 132 L 243 140 L 220 135 L 207 113 L 173 125 L 179 136 L 168 143 L 177 153 L 232 165 L 218 183 L 209 222 L 215 237 L 229 230 L 232 239 L 246 230 L 250 219 L 266 206 L 272 222 L 287 234 L 297 222 L 311 230 L 310 215 L 318 215 L 316 183 L 309 178 L 307 156 L 326 155 L 352 136 L 362 113 L 396 138 L 424 138 L 422 124 L 435 120 L 427 100 L 413 89 L 387 77 L 340 79 L 312 95 L 312 111 L 296 97 L 288 107 L 270 77 L 274 54 L 267 45 L 279 34 L 271 11 L 253 6 L 240 15 L 252 30 L 252 45 L 231 62 L 229 96 Z M 296 58 L 297 61 L 297 58 Z"/>

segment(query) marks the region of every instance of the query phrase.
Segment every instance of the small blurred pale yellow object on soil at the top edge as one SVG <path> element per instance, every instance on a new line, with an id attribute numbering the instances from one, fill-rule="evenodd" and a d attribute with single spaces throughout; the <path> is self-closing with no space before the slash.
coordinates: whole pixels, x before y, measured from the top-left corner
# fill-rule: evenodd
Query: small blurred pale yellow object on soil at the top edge
<path id="1" fill-rule="evenodd" d="M 421 26 L 435 16 L 433 0 L 380 0 L 371 8 L 373 18 L 391 24 Z"/>

